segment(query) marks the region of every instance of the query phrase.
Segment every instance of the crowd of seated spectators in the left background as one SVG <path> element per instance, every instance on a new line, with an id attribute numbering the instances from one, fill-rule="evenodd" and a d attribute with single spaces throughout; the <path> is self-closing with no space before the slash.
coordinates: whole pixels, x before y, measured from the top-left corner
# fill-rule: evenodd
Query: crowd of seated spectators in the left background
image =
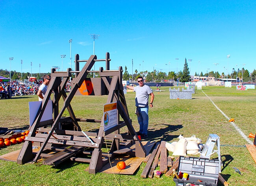
<path id="1" fill-rule="evenodd" d="M 11 96 L 36 95 L 43 81 L 34 81 L 29 84 L 11 81 Z M 71 83 L 67 82 L 65 91 L 70 92 Z M 0 82 L 0 98 L 9 98 L 9 82 Z"/>

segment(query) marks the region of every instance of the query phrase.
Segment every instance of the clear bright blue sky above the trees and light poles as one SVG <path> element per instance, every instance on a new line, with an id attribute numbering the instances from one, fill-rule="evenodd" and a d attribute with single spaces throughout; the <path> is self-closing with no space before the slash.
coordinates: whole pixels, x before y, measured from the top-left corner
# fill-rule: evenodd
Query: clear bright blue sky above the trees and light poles
<path id="1" fill-rule="evenodd" d="M 231 73 L 255 69 L 256 1 L 0 0 L 0 69 L 50 72 L 74 56 L 104 59 L 128 72 L 183 70 Z M 227 58 L 230 55 L 230 58 Z M 178 58 L 179 60 L 176 60 Z M 192 59 L 191 62 L 188 59 Z M 23 64 L 21 65 L 21 60 Z M 199 62 L 200 61 L 200 62 Z M 32 62 L 32 66 L 31 66 Z M 170 65 L 169 65 L 170 62 Z M 213 63 L 219 63 L 214 65 Z M 243 64 L 245 64 L 243 66 Z M 80 64 L 83 66 L 83 64 Z M 105 63 L 97 62 L 95 70 Z"/>

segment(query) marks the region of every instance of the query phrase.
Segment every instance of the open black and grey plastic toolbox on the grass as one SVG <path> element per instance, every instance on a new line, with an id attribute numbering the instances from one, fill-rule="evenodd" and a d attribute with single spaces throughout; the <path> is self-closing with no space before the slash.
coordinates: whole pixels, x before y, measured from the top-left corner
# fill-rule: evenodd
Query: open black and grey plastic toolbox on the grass
<path id="1" fill-rule="evenodd" d="M 176 186 L 217 186 L 219 177 L 219 160 L 180 156 L 178 174 L 188 173 L 187 180 L 176 179 Z M 201 180 L 202 182 L 198 181 Z"/>

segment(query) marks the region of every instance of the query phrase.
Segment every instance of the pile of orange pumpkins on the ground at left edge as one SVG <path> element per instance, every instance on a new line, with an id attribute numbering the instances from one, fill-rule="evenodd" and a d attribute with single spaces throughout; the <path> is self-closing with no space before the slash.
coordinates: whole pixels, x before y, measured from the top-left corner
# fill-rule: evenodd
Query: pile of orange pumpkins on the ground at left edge
<path id="1" fill-rule="evenodd" d="M 0 147 L 20 144 L 25 141 L 29 131 L 11 135 L 9 138 L 0 138 Z"/>

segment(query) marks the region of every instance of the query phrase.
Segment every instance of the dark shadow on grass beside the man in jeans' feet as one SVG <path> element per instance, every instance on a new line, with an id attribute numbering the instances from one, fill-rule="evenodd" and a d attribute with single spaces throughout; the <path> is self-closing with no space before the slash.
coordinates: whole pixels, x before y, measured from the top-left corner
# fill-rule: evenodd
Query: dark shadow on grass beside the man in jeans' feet
<path id="1" fill-rule="evenodd" d="M 169 142 L 174 138 L 178 138 L 178 135 L 171 135 L 173 131 L 178 131 L 179 129 L 183 128 L 182 125 L 168 125 L 168 124 L 159 124 L 161 125 L 161 129 L 149 129 L 148 130 L 148 138 L 154 140 L 163 140 Z M 158 127 L 158 125 L 154 125 Z M 165 127 L 165 128 L 163 128 Z"/>

